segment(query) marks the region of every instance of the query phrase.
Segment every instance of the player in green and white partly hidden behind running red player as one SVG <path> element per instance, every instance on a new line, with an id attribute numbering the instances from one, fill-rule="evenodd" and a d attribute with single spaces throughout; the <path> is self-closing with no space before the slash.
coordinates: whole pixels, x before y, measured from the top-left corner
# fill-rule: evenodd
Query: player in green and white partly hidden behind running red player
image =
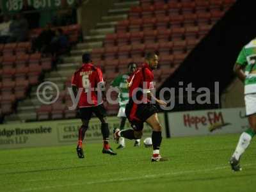
<path id="1" fill-rule="evenodd" d="M 135 72 L 136 68 L 137 68 L 136 63 L 129 63 L 128 72 L 126 74 L 117 76 L 111 83 L 111 86 L 116 87 L 119 90 L 118 99 L 119 99 L 120 108 L 117 116 L 121 119 L 120 130 L 123 130 L 125 126 L 125 121 L 126 121 L 125 106 L 129 101 L 129 90 L 128 90 L 127 80 Z M 117 148 L 125 147 L 124 138 L 120 137 L 118 143 L 119 145 Z M 140 145 L 140 140 L 135 140 L 134 146 L 139 146 L 139 145 Z"/>

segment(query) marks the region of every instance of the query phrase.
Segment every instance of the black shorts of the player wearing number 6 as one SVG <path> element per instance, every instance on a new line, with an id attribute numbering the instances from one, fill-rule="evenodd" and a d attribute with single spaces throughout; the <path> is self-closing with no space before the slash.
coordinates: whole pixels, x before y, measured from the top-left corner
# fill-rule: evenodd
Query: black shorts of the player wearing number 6
<path id="1" fill-rule="evenodd" d="M 83 120 L 90 120 L 92 118 L 92 114 L 94 114 L 98 118 L 104 118 L 107 115 L 106 109 L 104 108 L 103 104 L 95 107 L 79 108 L 79 115 L 80 118 Z"/>

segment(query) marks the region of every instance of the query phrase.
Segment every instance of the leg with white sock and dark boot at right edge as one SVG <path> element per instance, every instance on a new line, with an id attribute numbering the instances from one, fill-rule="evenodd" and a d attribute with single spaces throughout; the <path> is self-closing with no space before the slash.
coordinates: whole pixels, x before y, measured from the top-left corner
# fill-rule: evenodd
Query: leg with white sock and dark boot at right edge
<path id="1" fill-rule="evenodd" d="M 248 116 L 248 121 L 250 128 L 241 134 L 236 150 L 230 159 L 230 164 L 232 166 L 232 170 L 234 171 L 241 170 L 239 160 L 246 148 L 250 145 L 250 141 L 252 140 L 253 136 L 256 134 L 256 114 Z"/>

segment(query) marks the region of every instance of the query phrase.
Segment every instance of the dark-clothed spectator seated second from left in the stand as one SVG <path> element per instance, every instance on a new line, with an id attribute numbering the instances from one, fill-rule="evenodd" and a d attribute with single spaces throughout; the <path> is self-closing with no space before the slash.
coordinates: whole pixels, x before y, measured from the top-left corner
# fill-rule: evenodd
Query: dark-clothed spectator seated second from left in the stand
<path id="1" fill-rule="evenodd" d="M 17 13 L 10 24 L 10 38 L 7 42 L 24 42 L 28 39 L 28 21 L 21 13 Z"/>

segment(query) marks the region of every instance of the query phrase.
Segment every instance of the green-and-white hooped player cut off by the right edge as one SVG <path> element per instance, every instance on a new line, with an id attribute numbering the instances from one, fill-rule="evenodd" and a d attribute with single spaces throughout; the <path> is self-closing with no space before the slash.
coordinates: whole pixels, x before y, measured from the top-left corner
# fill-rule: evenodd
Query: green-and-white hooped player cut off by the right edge
<path id="1" fill-rule="evenodd" d="M 230 159 L 232 170 L 237 172 L 241 170 L 240 157 L 256 134 L 256 38 L 243 47 L 234 66 L 234 72 L 244 83 L 246 116 L 250 124 L 250 129 L 241 134 Z"/>

